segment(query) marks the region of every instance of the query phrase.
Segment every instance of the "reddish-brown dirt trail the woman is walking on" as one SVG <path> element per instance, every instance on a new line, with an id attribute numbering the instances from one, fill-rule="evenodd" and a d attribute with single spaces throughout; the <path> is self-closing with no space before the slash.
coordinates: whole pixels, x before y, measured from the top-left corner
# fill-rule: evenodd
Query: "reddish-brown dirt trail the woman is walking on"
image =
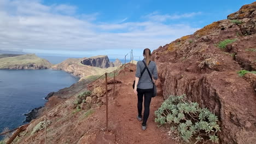
<path id="1" fill-rule="evenodd" d="M 109 102 L 109 131 L 97 134 L 93 143 L 177 143 L 170 139 L 166 129 L 158 128 L 157 123 L 154 122 L 154 111 L 163 101 L 159 95 L 152 99 L 148 128 L 142 131 L 141 122 L 136 118 L 137 95 L 132 89 L 136 67 L 133 65 L 130 68 L 133 71 L 128 69 L 126 75 L 121 72 L 117 76 L 117 80 L 121 80 L 122 83 L 117 86 L 117 94 Z"/>

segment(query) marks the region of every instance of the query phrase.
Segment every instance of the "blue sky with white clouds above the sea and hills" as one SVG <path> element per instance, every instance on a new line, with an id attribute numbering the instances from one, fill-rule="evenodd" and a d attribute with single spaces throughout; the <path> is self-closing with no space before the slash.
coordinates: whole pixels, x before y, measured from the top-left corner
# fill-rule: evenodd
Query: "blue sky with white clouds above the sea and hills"
<path id="1" fill-rule="evenodd" d="M 0 0 L 0 50 L 123 58 L 226 19 L 251 0 Z"/>

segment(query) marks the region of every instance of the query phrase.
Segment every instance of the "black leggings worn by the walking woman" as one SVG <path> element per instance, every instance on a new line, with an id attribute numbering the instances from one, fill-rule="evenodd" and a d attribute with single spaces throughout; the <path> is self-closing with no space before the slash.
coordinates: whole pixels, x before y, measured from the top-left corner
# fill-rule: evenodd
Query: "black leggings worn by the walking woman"
<path id="1" fill-rule="evenodd" d="M 151 98 L 153 96 L 153 88 L 150 89 L 140 89 L 137 88 L 138 92 L 138 117 L 142 117 L 142 103 L 143 103 L 143 95 L 144 95 L 144 115 L 142 125 L 147 125 L 147 120 L 149 116 L 149 106 L 151 102 Z"/>

